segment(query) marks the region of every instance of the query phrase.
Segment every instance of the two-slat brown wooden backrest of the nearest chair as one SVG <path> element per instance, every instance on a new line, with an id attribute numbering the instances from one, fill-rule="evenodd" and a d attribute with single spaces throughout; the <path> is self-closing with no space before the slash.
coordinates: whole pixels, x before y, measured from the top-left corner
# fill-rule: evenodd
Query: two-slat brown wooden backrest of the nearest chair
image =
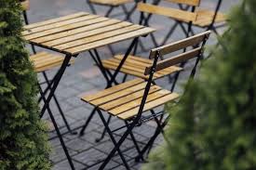
<path id="1" fill-rule="evenodd" d="M 205 33 L 199 33 L 199 34 L 196 34 L 195 36 L 191 36 L 191 37 L 183 39 L 181 41 L 152 49 L 151 53 L 150 53 L 150 59 L 155 58 L 155 54 L 157 51 L 159 52 L 160 56 L 164 56 L 164 55 L 170 54 L 175 51 L 179 51 L 181 49 L 184 49 L 184 48 L 187 48 L 190 46 L 192 46 L 192 47 L 199 46 L 201 43 L 206 42 L 206 40 L 209 38 L 209 34 L 210 34 L 210 31 L 205 32 Z M 199 55 L 201 55 L 202 48 L 203 48 L 203 46 L 199 46 L 199 47 L 190 49 L 180 55 L 157 62 L 156 66 L 155 66 L 155 72 L 164 70 L 168 67 L 171 67 L 171 66 L 174 66 L 177 64 L 180 64 L 189 59 L 197 58 Z M 145 75 L 150 74 L 152 67 L 153 66 L 147 67 L 145 69 L 144 74 Z"/>

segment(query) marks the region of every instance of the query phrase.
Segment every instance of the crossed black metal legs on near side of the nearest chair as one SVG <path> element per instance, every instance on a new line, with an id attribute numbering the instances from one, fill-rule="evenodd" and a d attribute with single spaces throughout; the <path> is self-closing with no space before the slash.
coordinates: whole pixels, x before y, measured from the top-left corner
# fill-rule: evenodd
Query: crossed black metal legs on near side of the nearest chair
<path id="1" fill-rule="evenodd" d="M 100 115 L 100 117 L 101 117 L 102 123 L 104 124 L 104 126 L 105 126 L 105 128 L 106 128 L 106 131 L 108 132 L 108 134 L 109 134 L 109 136 L 110 136 L 112 142 L 113 142 L 114 145 L 115 145 L 115 148 L 111 151 L 111 153 L 108 155 L 108 157 L 106 158 L 106 160 L 101 164 L 101 167 L 99 168 L 99 170 L 103 170 L 103 169 L 105 168 L 105 166 L 107 165 L 107 163 L 109 163 L 110 160 L 114 157 L 116 151 L 118 152 L 119 156 L 121 157 L 121 160 L 123 161 L 123 163 L 124 163 L 124 165 L 126 166 L 126 168 L 129 170 L 130 168 L 129 168 L 129 166 L 128 166 L 128 163 L 127 163 L 127 161 L 126 161 L 126 159 L 125 159 L 125 157 L 124 157 L 122 151 L 120 150 L 120 146 L 122 145 L 122 143 L 124 142 L 124 140 L 128 137 L 129 132 L 127 131 L 128 133 L 125 134 L 126 136 L 121 137 L 121 139 L 120 139 L 118 142 L 116 142 L 115 137 L 113 136 L 113 133 L 112 133 L 112 131 L 111 131 L 110 128 L 109 128 L 109 125 L 107 124 L 107 122 L 105 121 L 104 116 L 102 115 L 102 112 L 101 112 L 99 109 L 97 109 L 97 111 L 98 111 L 98 113 L 99 113 L 99 115 Z M 129 131 L 130 131 L 131 129 L 132 129 L 132 128 L 130 128 L 130 127 L 128 128 Z"/>

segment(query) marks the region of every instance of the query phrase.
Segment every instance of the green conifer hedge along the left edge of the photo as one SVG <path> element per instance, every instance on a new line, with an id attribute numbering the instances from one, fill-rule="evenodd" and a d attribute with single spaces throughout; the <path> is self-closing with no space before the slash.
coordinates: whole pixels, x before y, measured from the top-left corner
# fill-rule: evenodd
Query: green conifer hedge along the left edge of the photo
<path id="1" fill-rule="evenodd" d="M 36 74 L 20 36 L 18 0 L 0 1 L 0 170 L 50 169 Z"/>

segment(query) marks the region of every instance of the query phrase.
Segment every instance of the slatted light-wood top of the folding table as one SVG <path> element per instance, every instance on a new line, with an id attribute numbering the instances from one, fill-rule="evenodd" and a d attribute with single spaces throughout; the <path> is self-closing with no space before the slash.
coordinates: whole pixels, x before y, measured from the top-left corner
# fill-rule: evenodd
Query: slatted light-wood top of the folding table
<path id="1" fill-rule="evenodd" d="M 29 43 L 71 55 L 155 32 L 153 28 L 86 12 L 24 28 L 22 35 Z"/>

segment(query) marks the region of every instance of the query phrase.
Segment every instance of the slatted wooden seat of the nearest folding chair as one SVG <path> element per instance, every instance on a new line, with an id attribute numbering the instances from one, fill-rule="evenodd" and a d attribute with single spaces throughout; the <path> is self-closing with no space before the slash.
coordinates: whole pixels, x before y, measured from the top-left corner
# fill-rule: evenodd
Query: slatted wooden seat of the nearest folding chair
<path id="1" fill-rule="evenodd" d="M 128 120 L 138 114 L 146 85 L 147 82 L 138 78 L 81 99 L 121 120 Z M 150 111 L 176 98 L 179 98 L 178 94 L 152 85 L 143 111 Z"/>

